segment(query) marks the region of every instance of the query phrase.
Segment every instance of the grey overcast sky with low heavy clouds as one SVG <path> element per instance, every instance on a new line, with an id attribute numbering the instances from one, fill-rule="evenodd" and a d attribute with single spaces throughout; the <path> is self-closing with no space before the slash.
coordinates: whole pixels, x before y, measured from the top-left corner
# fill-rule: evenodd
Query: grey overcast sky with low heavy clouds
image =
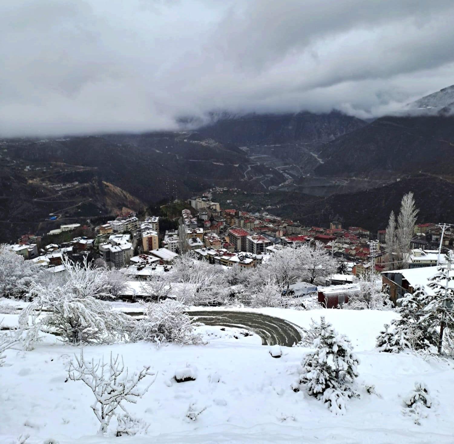
<path id="1" fill-rule="evenodd" d="M 383 115 L 454 84 L 453 0 L 5 0 L 0 134 Z"/>

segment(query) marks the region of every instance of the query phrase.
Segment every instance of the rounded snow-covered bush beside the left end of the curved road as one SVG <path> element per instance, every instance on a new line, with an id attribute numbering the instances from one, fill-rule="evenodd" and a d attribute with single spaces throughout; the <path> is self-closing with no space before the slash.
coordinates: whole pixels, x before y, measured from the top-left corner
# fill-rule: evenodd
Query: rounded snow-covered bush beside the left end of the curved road
<path id="1" fill-rule="evenodd" d="M 130 334 L 132 341 L 155 342 L 158 347 L 167 342 L 176 344 L 199 344 L 202 340 L 194 332 L 191 318 L 185 307 L 170 299 L 159 304 L 146 304 L 145 319 L 139 320 Z"/>

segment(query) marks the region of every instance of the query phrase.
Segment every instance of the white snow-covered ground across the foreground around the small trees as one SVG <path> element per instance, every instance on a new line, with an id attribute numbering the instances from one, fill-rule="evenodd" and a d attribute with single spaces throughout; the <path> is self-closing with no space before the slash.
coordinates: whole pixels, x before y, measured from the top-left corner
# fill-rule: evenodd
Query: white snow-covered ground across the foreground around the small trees
<path id="1" fill-rule="evenodd" d="M 1 305 L 1 304 L 0 304 Z M 205 309 L 205 308 L 204 308 Z M 0 310 L 1 311 L 1 310 Z M 247 311 L 254 311 L 247 309 Z M 79 349 L 45 334 L 32 351 L 8 350 L 0 368 L 0 443 L 453 443 L 454 368 L 452 361 L 425 361 L 413 354 L 378 353 L 375 336 L 394 312 L 372 310 L 259 309 L 258 312 L 308 327 L 311 317 L 325 315 L 350 338 L 359 356 L 360 399 L 348 401 L 343 416 L 332 414 L 321 401 L 290 386 L 309 349 L 282 347 L 272 358 L 270 347 L 241 329 L 197 327 L 206 345 L 180 347 L 114 344 L 84 347 L 85 358 L 108 360 L 123 355 L 130 371 L 150 365 L 154 384 L 131 413 L 151 424 L 147 435 L 115 437 L 113 419 L 106 436 L 90 405 L 93 394 L 82 383 L 67 380 L 69 360 Z M 0 314 L 4 324 L 17 314 Z M 238 338 L 238 339 L 236 339 Z M 175 372 L 190 365 L 195 381 L 176 383 Z M 402 397 L 424 381 L 434 405 L 421 425 L 401 413 Z M 377 394 L 368 394 L 374 384 Z M 188 407 L 204 411 L 192 421 Z M 52 441 L 51 439 L 54 439 Z"/>

